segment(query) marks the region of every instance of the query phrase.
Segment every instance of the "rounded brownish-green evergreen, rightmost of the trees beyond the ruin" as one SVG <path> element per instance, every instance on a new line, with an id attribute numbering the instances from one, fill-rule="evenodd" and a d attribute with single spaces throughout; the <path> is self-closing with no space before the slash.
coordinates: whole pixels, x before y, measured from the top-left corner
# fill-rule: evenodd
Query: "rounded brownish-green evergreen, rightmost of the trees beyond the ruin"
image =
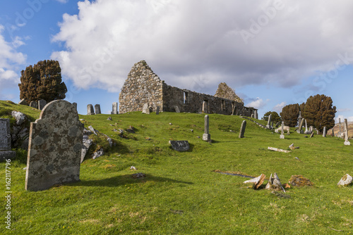
<path id="1" fill-rule="evenodd" d="M 317 94 L 306 100 L 301 115 L 306 119 L 308 126 L 316 127 L 323 132 L 323 127 L 330 129 L 335 126 L 335 113 L 336 106 L 333 106 L 331 97 Z"/>

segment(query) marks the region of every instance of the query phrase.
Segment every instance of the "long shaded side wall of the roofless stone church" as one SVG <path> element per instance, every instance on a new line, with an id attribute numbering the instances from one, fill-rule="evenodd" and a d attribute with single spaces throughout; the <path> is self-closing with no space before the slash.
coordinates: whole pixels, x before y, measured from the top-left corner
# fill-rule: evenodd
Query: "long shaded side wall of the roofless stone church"
<path id="1" fill-rule="evenodd" d="M 243 113 L 242 103 L 222 99 L 220 97 L 201 94 L 195 91 L 179 89 L 163 83 L 163 111 L 175 112 L 174 106 L 178 106 L 181 112 L 197 113 L 203 110 L 203 101 L 206 102 L 205 113 L 219 113 L 231 115 L 234 108 L 234 115 Z"/>

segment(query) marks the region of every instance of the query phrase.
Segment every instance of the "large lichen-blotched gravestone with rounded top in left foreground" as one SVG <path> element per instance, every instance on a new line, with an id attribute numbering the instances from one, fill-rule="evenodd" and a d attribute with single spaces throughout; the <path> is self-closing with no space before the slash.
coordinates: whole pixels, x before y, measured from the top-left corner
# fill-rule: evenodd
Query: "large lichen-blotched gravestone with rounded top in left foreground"
<path id="1" fill-rule="evenodd" d="M 72 103 L 52 101 L 30 124 L 25 189 L 39 191 L 80 180 L 83 125 Z"/>

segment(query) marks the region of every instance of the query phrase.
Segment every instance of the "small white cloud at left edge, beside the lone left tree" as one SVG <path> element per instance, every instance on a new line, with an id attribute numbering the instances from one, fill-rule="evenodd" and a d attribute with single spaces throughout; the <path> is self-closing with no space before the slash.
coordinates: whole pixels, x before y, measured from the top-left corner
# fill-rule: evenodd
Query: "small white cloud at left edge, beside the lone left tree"
<path id="1" fill-rule="evenodd" d="M 8 98 L 8 89 L 18 87 L 20 77 L 18 75 L 19 65 L 23 65 L 26 56 L 16 51 L 16 46 L 20 46 L 20 39 L 14 42 L 6 42 L 3 36 L 4 26 L 0 25 L 0 99 Z M 16 46 L 14 46 L 16 45 Z"/>

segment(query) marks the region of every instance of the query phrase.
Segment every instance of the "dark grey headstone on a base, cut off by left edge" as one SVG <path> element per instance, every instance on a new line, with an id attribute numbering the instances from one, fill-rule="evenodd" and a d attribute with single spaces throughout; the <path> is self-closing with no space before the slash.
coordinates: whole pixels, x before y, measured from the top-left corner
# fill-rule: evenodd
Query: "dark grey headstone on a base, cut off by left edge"
<path id="1" fill-rule="evenodd" d="M 10 120 L 0 118 L 0 162 L 16 157 L 16 152 L 11 151 Z"/>

